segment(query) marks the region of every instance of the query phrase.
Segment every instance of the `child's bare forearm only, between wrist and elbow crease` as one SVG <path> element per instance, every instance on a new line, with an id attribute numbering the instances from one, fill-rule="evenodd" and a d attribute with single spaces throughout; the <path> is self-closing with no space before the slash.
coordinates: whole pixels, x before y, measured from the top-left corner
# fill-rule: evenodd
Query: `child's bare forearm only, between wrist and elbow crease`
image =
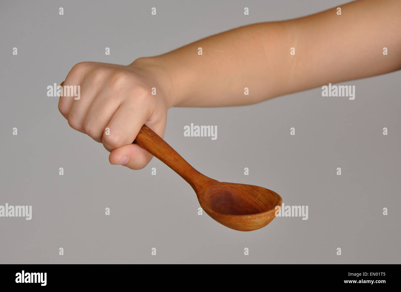
<path id="1" fill-rule="evenodd" d="M 291 62 L 290 48 L 283 50 L 285 35 L 280 22 L 251 24 L 138 61 L 167 72 L 172 106 L 246 105 L 277 95 L 274 91 L 284 85 Z M 262 38 L 271 42 L 269 52 Z"/>

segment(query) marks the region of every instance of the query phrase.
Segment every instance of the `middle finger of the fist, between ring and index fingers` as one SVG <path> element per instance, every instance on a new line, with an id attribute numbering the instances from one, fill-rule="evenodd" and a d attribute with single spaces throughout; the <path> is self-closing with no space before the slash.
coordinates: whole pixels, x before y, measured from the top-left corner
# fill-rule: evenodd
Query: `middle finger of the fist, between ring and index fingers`
<path id="1" fill-rule="evenodd" d="M 83 130 L 85 133 L 93 140 L 101 143 L 103 134 L 109 134 L 109 130 L 105 131 L 105 129 L 119 105 L 120 101 L 118 98 L 110 96 L 106 89 L 101 90 L 95 99 L 93 99 L 83 121 Z"/>

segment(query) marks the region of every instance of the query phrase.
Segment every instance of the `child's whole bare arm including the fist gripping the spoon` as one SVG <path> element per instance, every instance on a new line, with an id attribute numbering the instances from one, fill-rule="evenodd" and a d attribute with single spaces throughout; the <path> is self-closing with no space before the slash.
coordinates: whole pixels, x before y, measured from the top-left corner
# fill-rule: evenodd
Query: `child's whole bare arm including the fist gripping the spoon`
<path id="1" fill-rule="evenodd" d="M 145 123 L 163 137 L 170 107 L 247 105 L 399 70 L 401 0 L 340 7 L 341 15 L 332 8 L 243 26 L 128 66 L 78 63 L 64 86 L 81 86 L 81 98 L 61 97 L 59 110 L 73 129 L 103 143 L 111 164 L 140 169 L 152 155 L 132 141 Z"/>

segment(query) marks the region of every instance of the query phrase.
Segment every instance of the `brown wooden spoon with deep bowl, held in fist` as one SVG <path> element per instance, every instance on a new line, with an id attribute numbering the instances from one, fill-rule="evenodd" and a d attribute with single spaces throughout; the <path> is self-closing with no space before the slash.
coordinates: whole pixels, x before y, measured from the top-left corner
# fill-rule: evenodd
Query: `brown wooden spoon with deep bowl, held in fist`
<path id="1" fill-rule="evenodd" d="M 221 183 L 196 171 L 146 125 L 133 143 L 163 161 L 194 189 L 202 209 L 217 222 L 240 231 L 262 228 L 275 218 L 282 198 L 269 189 L 239 183 Z"/>

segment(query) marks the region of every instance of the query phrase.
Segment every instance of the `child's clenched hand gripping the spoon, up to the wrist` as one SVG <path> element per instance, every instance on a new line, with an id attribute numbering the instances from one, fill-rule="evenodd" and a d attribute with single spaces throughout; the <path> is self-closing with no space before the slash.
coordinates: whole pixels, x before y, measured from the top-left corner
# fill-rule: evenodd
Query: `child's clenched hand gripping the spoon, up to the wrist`
<path id="1" fill-rule="evenodd" d="M 140 58 L 128 66 L 82 62 L 68 73 L 63 86 L 80 85 L 80 98 L 60 97 L 59 111 L 69 125 L 103 143 L 111 164 L 145 167 L 152 155 L 132 144 L 146 123 L 160 137 L 166 127 L 168 77 Z M 152 88 L 156 95 L 152 95 Z M 109 135 L 107 128 L 109 128 Z"/>

